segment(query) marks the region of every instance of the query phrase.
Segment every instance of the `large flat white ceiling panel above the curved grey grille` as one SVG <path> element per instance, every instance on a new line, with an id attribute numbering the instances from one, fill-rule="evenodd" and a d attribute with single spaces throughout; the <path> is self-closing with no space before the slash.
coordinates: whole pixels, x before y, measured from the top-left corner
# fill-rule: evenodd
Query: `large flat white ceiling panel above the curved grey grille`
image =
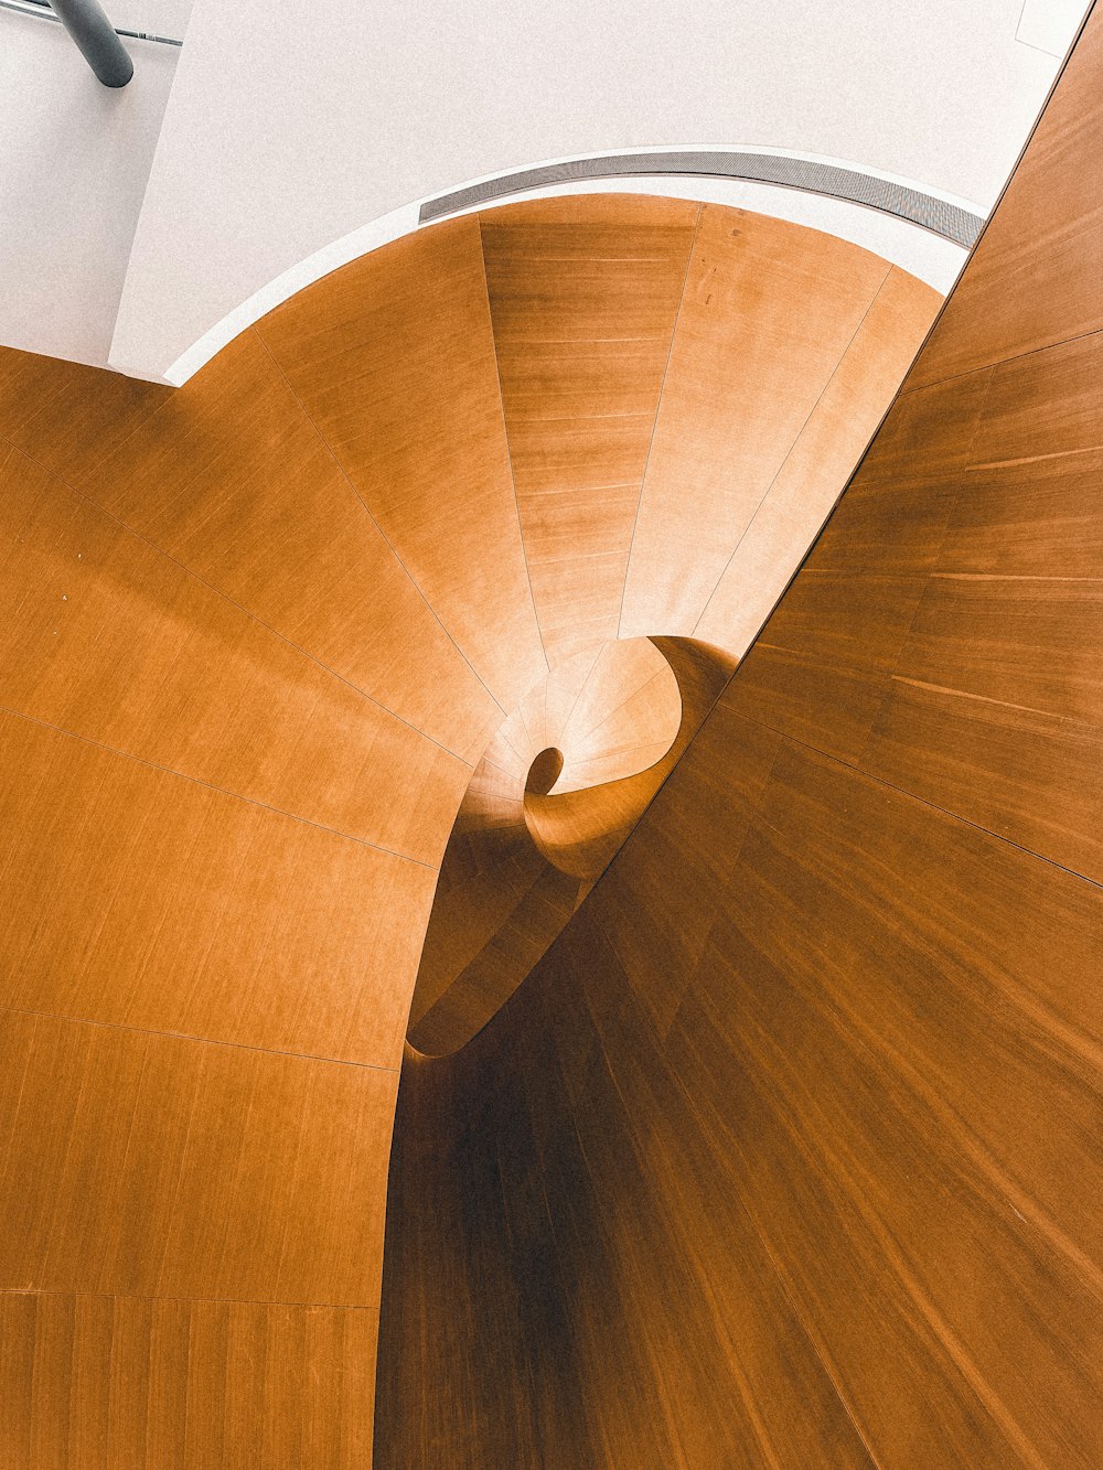
<path id="1" fill-rule="evenodd" d="M 112 363 L 163 378 L 331 241 L 534 159 L 738 138 L 847 159 L 987 212 L 1059 66 L 1016 38 L 1021 9 L 196 0 Z"/>

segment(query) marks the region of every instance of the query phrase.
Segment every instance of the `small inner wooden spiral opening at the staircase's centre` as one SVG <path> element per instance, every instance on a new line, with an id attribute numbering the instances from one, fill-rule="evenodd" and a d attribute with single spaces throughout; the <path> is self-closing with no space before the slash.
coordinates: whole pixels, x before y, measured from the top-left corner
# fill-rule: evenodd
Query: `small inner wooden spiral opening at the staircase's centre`
<path id="1" fill-rule="evenodd" d="M 506 722 L 456 816 L 410 1004 L 409 1039 L 421 1053 L 466 1045 L 529 975 L 734 669 L 721 650 L 681 638 L 612 642 L 569 666 L 568 713 L 549 720 L 538 686 L 534 713 L 522 706 Z M 563 750 L 538 750 L 552 732 Z"/>

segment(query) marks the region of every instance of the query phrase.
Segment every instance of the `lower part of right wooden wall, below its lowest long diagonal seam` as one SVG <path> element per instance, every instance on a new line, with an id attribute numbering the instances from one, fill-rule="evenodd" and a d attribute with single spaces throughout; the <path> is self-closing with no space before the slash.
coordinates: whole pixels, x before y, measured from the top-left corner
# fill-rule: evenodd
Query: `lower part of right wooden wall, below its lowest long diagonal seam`
<path id="1" fill-rule="evenodd" d="M 1091 1466 L 1100 891 L 771 736 L 737 689 L 500 1017 L 407 1064 L 379 1461 L 431 1424 L 457 1466 L 529 1441 L 544 1466 Z M 649 910 L 675 813 L 702 842 Z M 749 1310 L 756 1252 L 784 1313 Z M 479 1382 L 507 1372 L 512 1407 Z M 419 1373 L 443 1407 L 391 1419 Z"/>

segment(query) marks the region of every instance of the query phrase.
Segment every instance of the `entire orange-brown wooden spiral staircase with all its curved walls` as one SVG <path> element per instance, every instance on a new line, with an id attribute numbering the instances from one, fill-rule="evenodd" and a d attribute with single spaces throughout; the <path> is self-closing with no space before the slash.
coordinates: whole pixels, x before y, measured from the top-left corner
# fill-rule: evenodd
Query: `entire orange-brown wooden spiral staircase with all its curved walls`
<path id="1" fill-rule="evenodd" d="M 628 196 L 0 353 L 4 1467 L 1103 1460 L 1102 47 L 891 409 Z"/>

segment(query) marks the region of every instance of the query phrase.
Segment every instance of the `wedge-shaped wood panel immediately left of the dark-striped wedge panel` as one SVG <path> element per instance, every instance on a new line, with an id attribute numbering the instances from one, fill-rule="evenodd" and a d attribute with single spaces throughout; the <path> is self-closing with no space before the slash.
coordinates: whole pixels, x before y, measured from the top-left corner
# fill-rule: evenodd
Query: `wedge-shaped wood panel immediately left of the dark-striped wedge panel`
<path id="1" fill-rule="evenodd" d="M 376 250 L 256 329 L 444 629 L 512 711 L 546 660 L 478 220 Z"/>

